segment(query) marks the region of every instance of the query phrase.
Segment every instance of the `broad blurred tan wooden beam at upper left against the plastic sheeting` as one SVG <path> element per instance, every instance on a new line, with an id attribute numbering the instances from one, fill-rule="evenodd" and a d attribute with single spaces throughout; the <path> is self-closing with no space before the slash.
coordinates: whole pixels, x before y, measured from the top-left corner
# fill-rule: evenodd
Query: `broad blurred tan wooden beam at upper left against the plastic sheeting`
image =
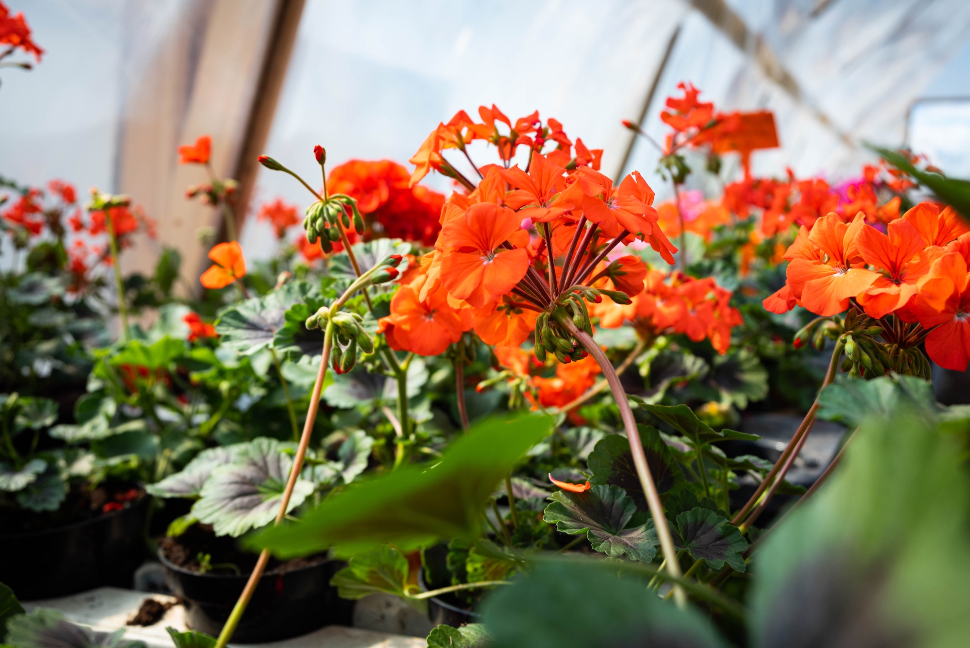
<path id="1" fill-rule="evenodd" d="M 182 256 L 182 292 L 195 293 L 208 265 L 199 241 L 203 227 L 218 231 L 220 214 L 185 199 L 185 188 L 208 180 L 204 167 L 179 165 L 177 147 L 212 138 L 210 164 L 229 178 L 251 131 L 267 71 L 267 57 L 287 0 L 210 0 L 195 23 L 178 27 L 139 70 L 132 85 L 118 145 L 118 190 L 158 221 L 158 239 L 142 239 L 121 257 L 126 272 L 150 274 L 162 246 Z M 299 16 L 298 18 L 299 19 Z M 196 32 L 196 38 L 183 36 Z M 136 46 L 137 47 L 137 46 Z M 265 119 L 265 117 L 264 117 Z"/>

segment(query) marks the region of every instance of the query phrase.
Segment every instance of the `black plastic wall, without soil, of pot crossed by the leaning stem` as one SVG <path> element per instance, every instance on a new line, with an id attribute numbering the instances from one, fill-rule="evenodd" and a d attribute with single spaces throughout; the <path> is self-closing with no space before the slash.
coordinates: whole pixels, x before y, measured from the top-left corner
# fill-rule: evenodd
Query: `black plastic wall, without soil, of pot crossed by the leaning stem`
<path id="1" fill-rule="evenodd" d="M 242 594 L 249 574 L 199 573 L 170 563 L 161 551 L 169 588 L 185 605 L 185 625 L 218 635 Z M 266 643 L 313 632 L 324 626 L 350 626 L 353 601 L 340 599 L 330 579 L 344 563 L 321 561 L 307 567 L 263 574 L 233 643 Z"/>

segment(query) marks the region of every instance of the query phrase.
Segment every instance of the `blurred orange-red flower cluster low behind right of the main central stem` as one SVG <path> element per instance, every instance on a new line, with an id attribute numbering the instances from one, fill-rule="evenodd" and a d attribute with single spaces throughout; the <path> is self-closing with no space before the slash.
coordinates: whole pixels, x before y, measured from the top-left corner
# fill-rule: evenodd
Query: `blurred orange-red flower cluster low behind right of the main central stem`
<path id="1" fill-rule="evenodd" d="M 723 355 L 730 347 L 731 328 L 744 323 L 740 311 L 730 306 L 730 298 L 731 292 L 713 277 L 698 279 L 680 272 L 665 275 L 651 270 L 646 274 L 645 289 L 632 298 L 631 304 L 616 304 L 604 297 L 601 303 L 590 305 L 590 314 L 606 329 L 629 321 L 647 338 L 678 333 L 695 342 L 707 338 Z"/>

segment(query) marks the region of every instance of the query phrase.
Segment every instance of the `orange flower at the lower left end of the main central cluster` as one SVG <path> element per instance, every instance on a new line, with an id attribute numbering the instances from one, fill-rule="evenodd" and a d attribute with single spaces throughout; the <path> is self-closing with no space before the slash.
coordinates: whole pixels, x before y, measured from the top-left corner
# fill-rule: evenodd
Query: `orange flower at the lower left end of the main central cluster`
<path id="1" fill-rule="evenodd" d="M 419 275 L 401 286 L 391 299 L 391 314 L 378 320 L 377 333 L 395 350 L 438 355 L 471 328 L 469 310 L 452 308 L 444 290 L 433 291 L 424 302 L 418 299 L 426 280 Z"/>

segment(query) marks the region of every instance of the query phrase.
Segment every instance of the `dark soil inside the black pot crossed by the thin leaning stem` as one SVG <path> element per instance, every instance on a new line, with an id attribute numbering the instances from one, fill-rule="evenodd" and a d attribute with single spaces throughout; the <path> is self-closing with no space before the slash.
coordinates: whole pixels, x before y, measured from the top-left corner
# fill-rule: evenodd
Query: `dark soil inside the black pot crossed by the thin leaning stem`
<path id="1" fill-rule="evenodd" d="M 230 535 L 217 536 L 208 524 L 192 525 L 178 537 L 163 537 L 158 540 L 158 546 L 161 547 L 167 561 L 189 571 L 199 571 L 200 554 L 210 556 L 209 573 L 218 574 L 235 574 L 236 569 L 231 566 L 239 567 L 243 575 L 251 573 L 259 558 L 259 554 L 243 551 L 239 546 L 239 538 Z M 293 558 L 288 561 L 278 561 L 271 557 L 266 566 L 266 572 L 293 571 L 301 567 L 317 565 L 326 560 L 326 554 Z"/>

